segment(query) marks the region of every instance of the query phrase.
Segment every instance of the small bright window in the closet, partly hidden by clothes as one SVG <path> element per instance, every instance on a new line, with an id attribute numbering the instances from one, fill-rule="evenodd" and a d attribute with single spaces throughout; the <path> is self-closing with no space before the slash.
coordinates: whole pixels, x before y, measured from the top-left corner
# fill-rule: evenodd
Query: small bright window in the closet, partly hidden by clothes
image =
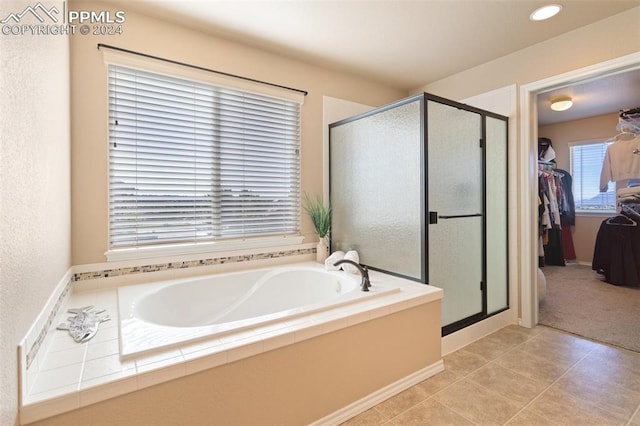
<path id="1" fill-rule="evenodd" d="M 575 143 L 569 146 L 576 212 L 615 212 L 615 184 L 610 182 L 608 191 L 600 192 L 600 173 L 607 146 L 606 142 Z"/>

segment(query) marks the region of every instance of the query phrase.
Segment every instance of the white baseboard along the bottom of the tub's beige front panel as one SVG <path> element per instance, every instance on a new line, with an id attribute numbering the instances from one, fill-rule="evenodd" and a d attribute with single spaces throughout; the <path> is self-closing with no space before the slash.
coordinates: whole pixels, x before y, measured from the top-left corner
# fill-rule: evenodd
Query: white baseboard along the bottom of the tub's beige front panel
<path id="1" fill-rule="evenodd" d="M 439 360 L 438 362 L 431 364 L 428 367 L 418 370 L 413 374 L 406 376 L 403 379 L 398 380 L 384 388 L 373 392 L 365 396 L 364 398 L 335 411 L 328 416 L 317 420 L 311 425 L 313 426 L 329 426 L 337 425 L 349 420 L 352 417 L 357 416 L 360 413 L 367 411 L 368 409 L 380 404 L 381 402 L 391 398 L 400 392 L 409 389 L 411 386 L 415 386 L 418 383 L 444 371 L 444 362 Z"/>

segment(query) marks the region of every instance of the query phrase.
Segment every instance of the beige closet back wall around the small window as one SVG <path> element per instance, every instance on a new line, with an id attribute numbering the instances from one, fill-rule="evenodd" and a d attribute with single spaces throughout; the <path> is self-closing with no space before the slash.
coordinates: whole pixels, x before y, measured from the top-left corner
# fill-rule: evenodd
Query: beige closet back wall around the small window
<path id="1" fill-rule="evenodd" d="M 618 114 L 606 114 L 583 120 L 550 124 L 538 128 L 538 135 L 551 139 L 556 152 L 558 168 L 570 171 L 569 143 L 593 139 L 606 140 L 616 135 Z M 604 218 L 611 215 L 576 215 L 576 226 L 572 228 L 573 245 L 577 261 L 590 264 L 598 229 Z"/>

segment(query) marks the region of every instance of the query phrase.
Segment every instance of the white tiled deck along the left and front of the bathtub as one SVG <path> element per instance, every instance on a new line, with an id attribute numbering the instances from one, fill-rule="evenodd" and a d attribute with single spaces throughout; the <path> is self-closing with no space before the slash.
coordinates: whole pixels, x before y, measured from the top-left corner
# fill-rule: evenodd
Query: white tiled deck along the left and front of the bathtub
<path id="1" fill-rule="evenodd" d="M 437 359 L 427 365 L 437 364 L 440 359 L 439 300 L 442 291 L 401 278 L 371 273 L 374 283 L 381 277 L 396 280 L 402 285 L 403 291 L 395 293 L 390 299 L 368 301 L 366 306 L 362 304 L 365 309 L 358 311 L 353 307 L 341 307 L 283 324 L 245 330 L 124 361 L 119 355 L 118 346 L 117 290 L 76 290 L 70 295 L 67 307 L 94 305 L 106 309 L 111 320 L 102 323 L 98 334 L 82 344 L 75 343 L 66 331 L 50 330 L 51 343 L 46 353 L 42 354 L 41 362 L 35 364 L 37 372 L 27 374 L 21 422 L 27 424 L 100 404 L 109 398 L 132 392 L 137 394 L 170 380 L 183 379 L 274 350 L 295 347 L 371 321 L 384 322 L 382 317 L 401 315 L 403 311 L 434 304 L 438 313 L 431 323 L 434 324 Z M 434 374 L 434 371 L 429 370 L 428 374 Z"/>

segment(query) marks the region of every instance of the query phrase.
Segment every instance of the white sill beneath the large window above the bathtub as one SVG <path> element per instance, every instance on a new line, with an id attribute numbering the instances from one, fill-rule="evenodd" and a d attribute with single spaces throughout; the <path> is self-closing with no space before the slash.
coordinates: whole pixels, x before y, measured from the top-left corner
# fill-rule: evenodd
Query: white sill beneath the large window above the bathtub
<path id="1" fill-rule="evenodd" d="M 197 255 L 202 253 L 221 254 L 236 250 L 278 249 L 286 246 L 302 244 L 303 236 L 277 236 L 262 238 L 244 238 L 238 240 L 217 241 L 196 244 L 170 244 L 162 246 L 135 247 L 109 250 L 105 253 L 107 262 L 138 260 L 165 256 Z"/>

